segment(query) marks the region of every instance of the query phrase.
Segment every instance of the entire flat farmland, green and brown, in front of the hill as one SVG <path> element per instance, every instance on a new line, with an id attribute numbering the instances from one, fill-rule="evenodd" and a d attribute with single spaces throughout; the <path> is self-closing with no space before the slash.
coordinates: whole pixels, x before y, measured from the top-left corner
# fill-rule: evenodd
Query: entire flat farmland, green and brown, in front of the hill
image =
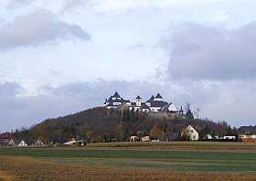
<path id="1" fill-rule="evenodd" d="M 256 144 L 0 148 L 0 180 L 256 180 Z"/>

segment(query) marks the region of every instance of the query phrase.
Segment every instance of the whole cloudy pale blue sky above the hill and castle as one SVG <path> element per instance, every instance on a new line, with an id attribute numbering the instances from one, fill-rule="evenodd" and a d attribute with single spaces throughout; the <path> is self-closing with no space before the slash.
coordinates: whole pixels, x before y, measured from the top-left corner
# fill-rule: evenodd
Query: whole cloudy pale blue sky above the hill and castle
<path id="1" fill-rule="evenodd" d="M 160 92 L 256 122 L 254 0 L 0 1 L 0 132 Z"/>

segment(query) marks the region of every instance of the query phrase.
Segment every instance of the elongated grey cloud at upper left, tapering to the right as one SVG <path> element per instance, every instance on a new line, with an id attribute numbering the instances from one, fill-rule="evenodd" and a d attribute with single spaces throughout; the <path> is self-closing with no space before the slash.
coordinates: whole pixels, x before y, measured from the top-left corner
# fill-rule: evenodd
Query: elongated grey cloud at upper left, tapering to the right
<path id="1" fill-rule="evenodd" d="M 1 49 L 36 47 L 73 37 L 84 41 L 91 39 L 80 26 L 59 20 L 49 10 L 38 10 L 25 16 L 17 16 L 13 23 L 0 26 Z"/>

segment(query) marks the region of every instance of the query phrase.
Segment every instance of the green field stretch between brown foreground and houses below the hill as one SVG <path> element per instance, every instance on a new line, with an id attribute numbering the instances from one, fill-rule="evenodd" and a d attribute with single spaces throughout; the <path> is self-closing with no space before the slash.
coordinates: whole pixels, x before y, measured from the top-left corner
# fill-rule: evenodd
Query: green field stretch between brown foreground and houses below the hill
<path id="1" fill-rule="evenodd" d="M 221 149 L 222 144 L 226 145 L 223 150 Z M 235 145 L 237 145 L 237 149 L 228 149 Z M 200 147 L 204 147 L 204 149 L 199 150 Z M 219 147 L 219 149 L 208 150 L 211 147 Z M 245 149 L 246 147 L 251 148 L 251 152 Z M 250 179 L 256 179 L 256 152 L 253 150 L 255 147 L 256 144 L 236 143 L 143 145 L 115 143 L 90 144 L 85 147 L 0 148 L 0 161 L 3 160 L 0 168 L 1 171 L 11 172 L 7 169 L 8 166 L 5 166 L 7 165 L 5 158 L 13 158 L 14 165 L 16 165 L 16 158 L 24 158 L 25 160 L 29 158 L 28 160 L 34 159 L 31 163 L 35 165 L 41 162 L 46 165 L 78 166 L 80 169 L 83 169 L 83 166 L 95 169 L 101 167 L 101 169 L 121 169 L 120 173 L 132 169 L 144 172 L 154 170 L 156 173 L 176 173 L 177 175 L 205 173 L 212 175 L 212 178 L 219 174 L 227 176 L 240 174 L 240 176 L 249 176 Z M 244 152 L 245 150 L 247 152 Z M 22 175 L 22 171 L 15 175 Z"/>

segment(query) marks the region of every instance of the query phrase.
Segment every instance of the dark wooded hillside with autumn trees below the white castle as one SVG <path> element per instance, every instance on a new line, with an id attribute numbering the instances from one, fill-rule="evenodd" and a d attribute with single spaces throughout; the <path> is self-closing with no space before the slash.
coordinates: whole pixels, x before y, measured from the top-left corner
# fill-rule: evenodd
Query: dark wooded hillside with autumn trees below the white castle
<path id="1" fill-rule="evenodd" d="M 165 141 L 166 133 L 181 133 L 187 125 L 197 129 L 201 138 L 211 133 L 214 135 L 236 135 L 236 129 L 227 122 L 212 122 L 197 119 L 154 119 L 145 112 L 123 110 L 122 112 L 109 111 L 105 108 L 94 108 L 56 119 L 48 119 L 33 125 L 31 128 L 22 128 L 13 133 L 17 140 L 26 140 L 34 143 L 39 139 L 42 142 L 65 143 L 71 138 L 83 139 L 90 143 L 128 141 L 131 135 L 144 133 L 152 138 Z"/>

